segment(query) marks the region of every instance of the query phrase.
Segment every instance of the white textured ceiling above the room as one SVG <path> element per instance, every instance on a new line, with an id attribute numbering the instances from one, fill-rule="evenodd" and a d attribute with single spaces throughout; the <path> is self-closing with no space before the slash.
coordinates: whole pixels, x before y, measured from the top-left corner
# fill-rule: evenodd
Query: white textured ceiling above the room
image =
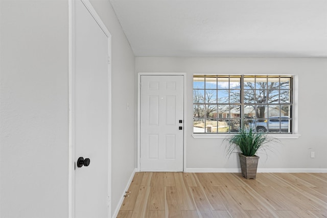
<path id="1" fill-rule="evenodd" d="M 327 57 L 327 0 L 110 2 L 137 57 Z"/>

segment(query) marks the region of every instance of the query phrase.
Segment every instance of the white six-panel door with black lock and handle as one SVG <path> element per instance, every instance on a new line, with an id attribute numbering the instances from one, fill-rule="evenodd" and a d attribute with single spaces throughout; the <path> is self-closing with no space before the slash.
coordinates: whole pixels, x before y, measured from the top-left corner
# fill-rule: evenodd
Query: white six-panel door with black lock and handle
<path id="1" fill-rule="evenodd" d="M 141 171 L 183 171 L 183 76 L 141 76 Z"/>

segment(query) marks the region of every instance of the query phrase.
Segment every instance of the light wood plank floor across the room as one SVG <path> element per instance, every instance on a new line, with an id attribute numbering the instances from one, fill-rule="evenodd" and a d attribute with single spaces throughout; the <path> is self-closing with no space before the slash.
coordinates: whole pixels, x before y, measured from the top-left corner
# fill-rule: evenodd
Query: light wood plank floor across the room
<path id="1" fill-rule="evenodd" d="M 327 217 L 327 174 L 136 173 L 118 217 Z"/>

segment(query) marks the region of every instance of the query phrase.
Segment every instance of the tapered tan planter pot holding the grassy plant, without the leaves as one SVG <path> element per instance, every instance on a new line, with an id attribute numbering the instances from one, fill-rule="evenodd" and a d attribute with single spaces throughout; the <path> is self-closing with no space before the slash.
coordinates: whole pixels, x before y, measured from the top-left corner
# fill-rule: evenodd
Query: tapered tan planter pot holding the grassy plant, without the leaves
<path id="1" fill-rule="evenodd" d="M 242 176 L 246 179 L 255 179 L 258 168 L 258 156 L 247 157 L 239 153 Z"/>

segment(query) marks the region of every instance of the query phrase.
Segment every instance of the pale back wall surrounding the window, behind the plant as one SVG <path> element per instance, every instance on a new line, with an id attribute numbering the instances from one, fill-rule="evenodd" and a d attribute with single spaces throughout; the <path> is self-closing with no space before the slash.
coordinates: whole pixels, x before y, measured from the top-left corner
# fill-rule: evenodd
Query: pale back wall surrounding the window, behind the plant
<path id="1" fill-rule="evenodd" d="M 261 171 L 326 171 L 327 59 L 313 58 L 136 58 L 136 72 L 186 72 L 185 129 L 187 168 L 233 171 L 237 156 L 227 159 L 222 139 L 195 139 L 193 133 L 193 74 L 292 74 L 298 75 L 298 139 L 281 139 L 261 154 Z M 191 122 L 190 122 L 191 121 Z M 310 158 L 311 151 L 316 154 Z M 197 169 L 199 168 L 199 169 Z"/>

